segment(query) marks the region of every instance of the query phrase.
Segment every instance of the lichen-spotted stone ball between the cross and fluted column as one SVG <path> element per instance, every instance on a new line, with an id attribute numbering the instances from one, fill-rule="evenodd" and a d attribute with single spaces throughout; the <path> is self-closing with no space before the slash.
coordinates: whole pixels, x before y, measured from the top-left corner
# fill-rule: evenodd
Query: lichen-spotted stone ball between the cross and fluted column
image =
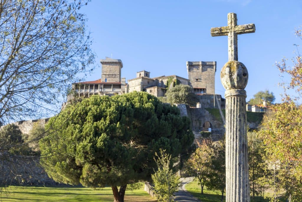
<path id="1" fill-rule="evenodd" d="M 220 80 L 226 90 L 244 89 L 248 79 L 246 66 L 238 61 L 228 61 L 220 72 Z"/>

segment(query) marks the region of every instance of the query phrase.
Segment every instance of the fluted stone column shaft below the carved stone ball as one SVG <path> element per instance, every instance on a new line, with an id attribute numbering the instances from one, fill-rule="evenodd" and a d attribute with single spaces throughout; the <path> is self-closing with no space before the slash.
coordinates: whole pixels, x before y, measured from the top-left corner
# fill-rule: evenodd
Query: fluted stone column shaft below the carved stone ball
<path id="1" fill-rule="evenodd" d="M 249 202 L 246 91 L 226 94 L 226 202 Z"/>

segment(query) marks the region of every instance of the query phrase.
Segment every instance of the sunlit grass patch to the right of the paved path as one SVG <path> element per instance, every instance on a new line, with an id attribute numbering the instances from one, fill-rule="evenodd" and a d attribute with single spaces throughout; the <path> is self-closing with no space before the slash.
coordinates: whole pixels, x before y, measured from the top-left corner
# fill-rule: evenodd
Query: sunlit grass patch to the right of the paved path
<path id="1" fill-rule="evenodd" d="M 207 190 L 207 187 L 204 186 L 204 194 L 201 195 L 201 187 L 198 185 L 197 181 L 190 182 L 185 186 L 185 188 L 190 192 L 193 196 L 197 197 L 200 199 L 202 202 L 220 202 L 221 200 L 221 192 L 218 190 L 212 191 L 212 190 Z M 265 195 L 268 196 L 268 195 Z M 225 193 L 223 194 L 223 201 L 225 201 Z M 251 202 L 257 202 L 257 201 L 262 201 L 263 202 L 263 197 L 262 200 L 260 200 L 260 197 L 255 197 L 255 200 L 251 198 Z M 265 199 L 264 202 L 268 202 L 268 199 Z M 285 201 L 282 199 L 281 201 Z"/>

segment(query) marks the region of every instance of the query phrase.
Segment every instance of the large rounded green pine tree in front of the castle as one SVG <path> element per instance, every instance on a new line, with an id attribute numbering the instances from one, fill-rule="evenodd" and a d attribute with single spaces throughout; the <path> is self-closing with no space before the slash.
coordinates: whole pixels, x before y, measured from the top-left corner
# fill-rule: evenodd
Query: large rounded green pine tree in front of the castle
<path id="1" fill-rule="evenodd" d="M 91 96 L 51 118 L 46 130 L 41 162 L 50 177 L 85 187 L 111 185 L 119 195 L 127 184 L 150 179 L 159 149 L 175 158 L 189 153 L 194 140 L 189 119 L 146 92 Z"/>

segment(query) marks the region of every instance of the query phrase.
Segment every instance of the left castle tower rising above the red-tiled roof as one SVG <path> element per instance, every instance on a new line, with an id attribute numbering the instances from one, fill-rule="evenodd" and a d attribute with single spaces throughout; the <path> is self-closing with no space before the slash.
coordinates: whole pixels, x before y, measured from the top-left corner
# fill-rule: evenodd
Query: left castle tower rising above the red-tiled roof
<path id="1" fill-rule="evenodd" d="M 121 60 L 106 57 L 106 59 L 101 60 L 101 64 L 102 82 L 121 82 L 120 75 L 121 69 L 123 68 L 123 63 Z"/>

